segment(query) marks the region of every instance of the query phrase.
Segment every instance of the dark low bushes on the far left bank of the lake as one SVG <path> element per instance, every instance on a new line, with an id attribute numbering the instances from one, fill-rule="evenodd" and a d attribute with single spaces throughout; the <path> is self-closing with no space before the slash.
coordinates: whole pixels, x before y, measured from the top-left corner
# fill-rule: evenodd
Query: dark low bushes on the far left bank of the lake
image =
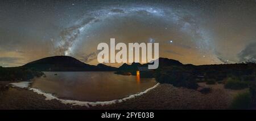
<path id="1" fill-rule="evenodd" d="M 43 72 L 25 67 L 0 67 L 0 81 L 27 81 L 43 75 Z"/>

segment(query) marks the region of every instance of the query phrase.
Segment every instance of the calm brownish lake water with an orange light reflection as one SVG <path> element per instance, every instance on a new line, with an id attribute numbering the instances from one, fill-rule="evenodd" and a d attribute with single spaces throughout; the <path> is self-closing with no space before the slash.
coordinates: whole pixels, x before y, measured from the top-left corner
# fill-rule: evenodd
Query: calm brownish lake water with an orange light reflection
<path id="1" fill-rule="evenodd" d="M 153 87 L 155 79 L 140 79 L 114 72 L 44 72 L 46 77 L 34 79 L 31 87 L 56 97 L 79 101 L 121 99 Z M 55 75 L 57 74 L 57 75 Z"/>

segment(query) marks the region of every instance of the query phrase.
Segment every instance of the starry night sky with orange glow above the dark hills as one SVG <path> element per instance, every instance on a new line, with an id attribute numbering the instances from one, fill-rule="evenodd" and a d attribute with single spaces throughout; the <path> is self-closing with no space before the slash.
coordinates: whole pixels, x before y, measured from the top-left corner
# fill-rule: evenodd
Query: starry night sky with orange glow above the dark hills
<path id="1" fill-rule="evenodd" d="M 256 1 L 0 0 L 0 66 L 53 55 L 97 64 L 110 38 L 158 42 L 160 57 L 184 64 L 256 62 Z"/>

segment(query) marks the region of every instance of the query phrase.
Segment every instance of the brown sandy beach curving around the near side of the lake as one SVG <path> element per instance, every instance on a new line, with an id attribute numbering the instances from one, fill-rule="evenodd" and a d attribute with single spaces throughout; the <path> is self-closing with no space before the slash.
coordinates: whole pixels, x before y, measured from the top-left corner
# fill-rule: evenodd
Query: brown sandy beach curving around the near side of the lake
<path id="1" fill-rule="evenodd" d="M 43 95 L 28 89 L 14 88 L 10 82 L 0 82 L 0 109 L 228 109 L 237 93 L 243 90 L 224 89 L 223 84 L 207 85 L 210 93 L 177 88 L 170 84 L 160 84 L 142 96 L 105 106 L 73 106 L 57 100 L 45 100 Z"/>

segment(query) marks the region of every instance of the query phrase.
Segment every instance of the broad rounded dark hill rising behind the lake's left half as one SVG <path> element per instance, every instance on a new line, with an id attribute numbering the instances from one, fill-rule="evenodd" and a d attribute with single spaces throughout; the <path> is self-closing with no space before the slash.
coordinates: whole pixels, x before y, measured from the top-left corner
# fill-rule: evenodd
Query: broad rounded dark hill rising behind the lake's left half
<path id="1" fill-rule="evenodd" d="M 23 67 L 38 71 L 115 71 L 117 68 L 98 64 L 86 64 L 73 57 L 55 56 L 47 57 L 25 64 Z"/>

